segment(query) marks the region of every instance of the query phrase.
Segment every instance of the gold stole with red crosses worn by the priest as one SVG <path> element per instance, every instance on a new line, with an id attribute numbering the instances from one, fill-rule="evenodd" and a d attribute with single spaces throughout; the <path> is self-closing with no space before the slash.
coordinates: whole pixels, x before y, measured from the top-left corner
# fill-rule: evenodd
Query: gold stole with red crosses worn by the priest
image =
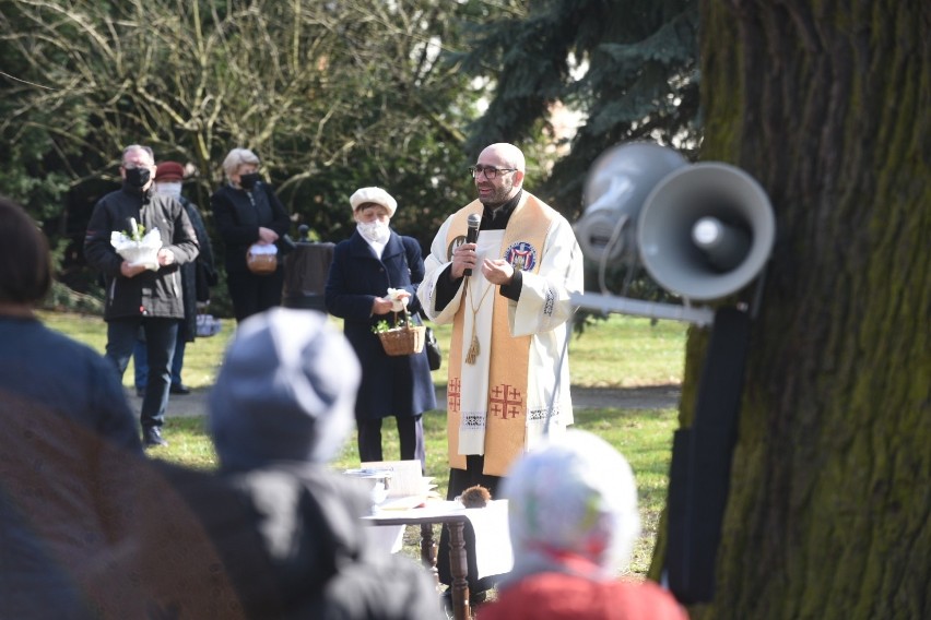
<path id="1" fill-rule="evenodd" d="M 470 214 L 482 214 L 483 206 L 478 200 L 461 208 L 455 216 L 447 233 L 447 248 L 452 248 L 457 237 L 467 229 Z M 504 258 L 511 243 L 526 241 L 537 250 L 537 263 L 530 270 L 537 273 L 543 260 L 543 243 L 553 222 L 555 212 L 529 192 L 508 220 L 498 258 Z M 466 295 L 463 288 L 462 295 Z M 496 338 L 492 339 L 492 350 L 480 355 L 491 355 L 488 370 L 488 404 L 485 416 L 485 467 L 484 474 L 504 476 L 517 456 L 523 452 L 527 436 L 527 377 L 530 360 L 532 336 L 510 336 L 508 324 L 509 299 L 494 291 L 492 325 Z M 462 347 L 464 312 L 469 305 L 459 305 L 452 323 L 452 338 L 449 344 L 449 380 L 447 384 L 447 446 L 449 466 L 466 469 L 466 456 L 459 454 L 459 426 L 461 413 L 459 394 L 462 389 Z M 468 386 L 467 386 L 468 389 Z"/>

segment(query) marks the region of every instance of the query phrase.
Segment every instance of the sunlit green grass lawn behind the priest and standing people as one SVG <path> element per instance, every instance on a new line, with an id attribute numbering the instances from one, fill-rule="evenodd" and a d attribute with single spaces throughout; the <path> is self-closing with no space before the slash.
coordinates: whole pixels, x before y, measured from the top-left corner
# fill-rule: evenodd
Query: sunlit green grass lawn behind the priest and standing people
<path id="1" fill-rule="evenodd" d="M 43 312 L 50 327 L 86 343 L 101 353 L 106 327 L 99 317 Z M 210 338 L 189 344 L 185 356 L 185 382 L 198 389 L 213 384 L 223 350 L 234 332 L 235 322 L 224 320 L 223 331 Z M 573 385 L 577 388 L 626 388 L 679 383 L 684 363 L 686 327 L 673 322 L 651 325 L 648 319 L 612 315 L 586 330 L 570 344 Z M 444 353 L 448 351 L 449 326 L 436 329 Z M 131 388 L 131 368 L 123 384 Z M 446 368 L 434 372 L 439 385 L 446 383 Z M 660 512 L 665 503 L 672 432 L 677 427 L 675 409 L 588 409 L 576 412 L 576 428 L 589 430 L 614 445 L 634 469 L 637 478 L 643 534 L 634 552 L 632 573 L 643 575 L 649 568 Z M 427 473 L 435 476 L 445 493 L 449 470 L 446 460 L 446 412 L 429 412 L 424 417 Z M 160 450 L 160 458 L 191 467 L 216 466 L 216 454 L 204 429 L 203 418 L 173 418 L 166 436 L 170 446 Z M 397 429 L 387 420 L 384 428 L 385 458 L 400 458 Z M 346 443 L 332 466 L 357 467 L 354 439 Z M 437 533 L 438 536 L 438 533 Z M 405 533 L 404 552 L 419 558 L 419 528 Z"/>

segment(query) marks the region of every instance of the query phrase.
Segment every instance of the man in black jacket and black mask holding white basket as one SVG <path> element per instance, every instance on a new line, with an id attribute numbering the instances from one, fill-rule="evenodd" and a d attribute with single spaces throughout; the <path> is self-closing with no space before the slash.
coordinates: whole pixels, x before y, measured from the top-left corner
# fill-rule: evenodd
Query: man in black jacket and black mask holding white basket
<path id="1" fill-rule="evenodd" d="M 84 255 L 106 283 L 106 356 L 122 378 L 140 326 L 145 333 L 149 383 L 142 401 L 142 442 L 166 445 L 162 438 L 172 356 L 178 323 L 185 317 L 178 266 L 198 255 L 197 236 L 185 207 L 174 198 L 152 192 L 155 156 L 148 146 L 133 144 L 122 152 L 122 188 L 97 202 L 84 237 Z M 150 264 L 123 259 L 113 245 L 114 233 L 130 235 L 137 225 L 158 230 L 162 247 Z"/>

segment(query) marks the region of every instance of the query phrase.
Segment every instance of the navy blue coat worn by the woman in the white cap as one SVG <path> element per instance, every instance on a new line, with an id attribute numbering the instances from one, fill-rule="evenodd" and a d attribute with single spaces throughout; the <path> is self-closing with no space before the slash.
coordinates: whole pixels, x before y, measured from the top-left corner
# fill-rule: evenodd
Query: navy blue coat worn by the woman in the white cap
<path id="1" fill-rule="evenodd" d="M 391 233 L 381 260 L 358 231 L 333 249 L 327 278 L 327 311 L 343 319 L 346 338 L 362 363 L 362 385 L 355 404 L 356 419 L 415 416 L 436 408 L 426 351 L 389 356 L 372 331 L 376 323 L 393 321 L 392 313 L 372 314 L 376 297 L 389 288 L 411 291 L 408 309 L 420 310 L 416 289 L 424 277 L 424 260 L 417 241 Z"/>

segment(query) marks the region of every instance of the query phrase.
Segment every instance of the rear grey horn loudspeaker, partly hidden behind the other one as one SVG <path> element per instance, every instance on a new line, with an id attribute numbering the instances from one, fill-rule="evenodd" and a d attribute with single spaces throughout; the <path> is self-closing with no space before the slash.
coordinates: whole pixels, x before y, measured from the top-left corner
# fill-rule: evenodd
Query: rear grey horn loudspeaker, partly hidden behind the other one
<path id="1" fill-rule="evenodd" d="M 640 207 L 659 181 L 688 162 L 651 142 L 609 148 L 586 177 L 585 214 L 575 225 L 582 253 L 598 263 L 636 260 Z"/>

